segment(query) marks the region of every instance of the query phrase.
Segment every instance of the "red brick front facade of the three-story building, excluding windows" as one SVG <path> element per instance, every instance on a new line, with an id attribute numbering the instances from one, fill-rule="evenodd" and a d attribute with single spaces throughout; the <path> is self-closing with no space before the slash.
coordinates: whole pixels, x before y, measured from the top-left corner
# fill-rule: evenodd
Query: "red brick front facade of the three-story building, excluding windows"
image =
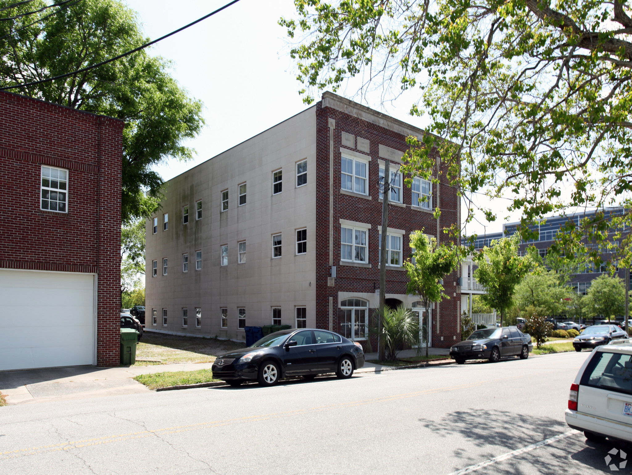
<path id="1" fill-rule="evenodd" d="M 362 106 L 360 106 L 362 107 Z M 322 107 L 322 102 L 317 107 L 317 196 L 316 196 L 316 326 L 318 328 L 329 327 L 329 298 L 332 298 L 332 330 L 339 332 L 340 318 L 337 301 L 338 292 L 369 292 L 374 293 L 379 289 L 379 232 L 382 224 L 382 203 L 379 200 L 377 190 L 377 178 L 379 176 L 379 145 L 394 148 L 404 152 L 406 136 L 392 131 L 378 124 L 372 123 L 355 115 L 339 111 L 332 107 Z M 387 117 L 389 118 L 389 117 Z M 330 174 L 330 128 L 329 119 L 335 120 L 333 129 L 333 174 Z M 410 126 L 410 129 L 413 127 Z M 370 155 L 372 160 L 368 162 L 368 195 L 371 199 L 349 196 L 341 193 L 341 144 L 343 132 L 356 137 L 354 149 L 357 150 L 357 138 L 363 138 L 370 143 L 370 152 L 360 152 Z M 422 131 L 418 131 L 422 133 Z M 344 147 L 351 148 L 351 147 Z M 379 160 L 386 160 L 380 158 Z M 391 169 L 399 167 L 398 162 L 391 161 Z M 446 170 L 441 176 L 441 228 L 448 227 L 458 221 L 459 198 L 456 189 L 447 184 Z M 329 195 L 329 180 L 333 180 L 333 195 Z M 403 259 L 410 256 L 410 232 L 423 229 L 427 234 L 437 235 L 437 220 L 432 213 L 411 209 L 411 189 L 402 186 L 403 206 L 389 206 L 388 225 L 391 228 L 403 229 L 406 234 L 403 236 L 402 254 Z M 433 189 L 433 196 L 437 196 L 436 185 Z M 328 277 L 331 268 L 329 267 L 329 213 L 330 198 L 333 200 L 333 261 L 336 266 L 336 279 L 334 286 L 328 286 Z M 433 207 L 436 201 L 433 203 Z M 352 220 L 370 224 L 368 231 L 368 263 L 371 268 L 358 268 L 339 265 L 340 263 L 340 239 L 341 224 L 340 219 Z M 447 241 L 448 236 L 441 231 L 441 241 Z M 402 269 L 392 269 L 387 267 L 386 271 L 386 294 L 406 294 L 406 272 Z M 439 304 L 439 325 L 437 325 L 437 311 L 432 313 L 432 346 L 449 347 L 455 341 L 460 341 L 458 329 L 458 306 L 461 301 L 460 287 L 458 287 L 458 270 L 448 275 L 444 279 L 444 287 L 449 299 L 444 299 Z M 456 292 L 456 295 L 454 295 Z M 372 315 L 375 309 L 369 309 Z M 375 346 L 374 346 L 375 349 Z"/>

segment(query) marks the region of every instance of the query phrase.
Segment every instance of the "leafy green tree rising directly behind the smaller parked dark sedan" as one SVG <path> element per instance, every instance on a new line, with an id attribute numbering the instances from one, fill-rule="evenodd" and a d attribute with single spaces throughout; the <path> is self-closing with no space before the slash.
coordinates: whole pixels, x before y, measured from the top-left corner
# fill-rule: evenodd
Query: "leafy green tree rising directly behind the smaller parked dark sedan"
<path id="1" fill-rule="evenodd" d="M 532 265 L 528 256 L 518 256 L 519 239 L 518 234 L 497 239 L 492 241 L 491 247 L 485 246 L 474 256 L 478 264 L 474 277 L 485 287 L 480 300 L 501 314 L 501 327 L 507 310 L 513 305 L 514 289 Z"/>

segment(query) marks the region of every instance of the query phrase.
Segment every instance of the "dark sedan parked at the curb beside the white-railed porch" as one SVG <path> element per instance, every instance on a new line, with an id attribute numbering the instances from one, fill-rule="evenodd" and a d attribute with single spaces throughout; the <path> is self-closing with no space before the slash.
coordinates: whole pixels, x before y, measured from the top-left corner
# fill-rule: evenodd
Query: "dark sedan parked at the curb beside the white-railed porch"
<path id="1" fill-rule="evenodd" d="M 491 363 L 496 363 L 505 356 L 529 358 L 532 350 L 530 335 L 523 334 L 516 327 L 485 328 L 451 347 L 450 358 L 458 364 L 468 359 L 489 359 Z"/>

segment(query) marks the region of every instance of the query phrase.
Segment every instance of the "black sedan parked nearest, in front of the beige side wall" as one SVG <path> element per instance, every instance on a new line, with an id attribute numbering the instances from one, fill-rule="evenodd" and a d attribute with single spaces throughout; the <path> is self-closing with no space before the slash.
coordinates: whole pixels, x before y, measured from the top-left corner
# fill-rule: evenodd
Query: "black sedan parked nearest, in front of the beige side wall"
<path id="1" fill-rule="evenodd" d="M 238 386 L 244 381 L 258 381 L 272 386 L 286 376 L 315 378 L 322 373 L 336 373 L 350 378 L 364 366 L 364 352 L 358 342 L 341 335 L 300 328 L 274 332 L 251 346 L 218 356 L 213 376 Z"/>

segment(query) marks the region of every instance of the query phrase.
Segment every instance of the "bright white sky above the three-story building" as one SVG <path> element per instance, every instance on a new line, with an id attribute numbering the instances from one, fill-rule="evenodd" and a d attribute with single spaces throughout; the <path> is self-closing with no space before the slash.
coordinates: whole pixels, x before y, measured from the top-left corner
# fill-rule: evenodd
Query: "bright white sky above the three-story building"
<path id="1" fill-rule="evenodd" d="M 128 0 L 127 3 L 137 11 L 145 35 L 156 39 L 228 1 Z M 296 80 L 295 63 L 289 56 L 291 45 L 286 31 L 277 23 L 281 16 L 296 18 L 292 0 L 241 0 L 149 50 L 149 54 L 169 59 L 173 77 L 192 97 L 205 104 L 207 124 L 197 138 L 186 143 L 195 148 L 195 159 L 189 162 L 171 159 L 158 165 L 155 170 L 163 179 L 171 179 L 307 109 L 298 94 L 301 83 Z M 355 87 L 349 85 L 337 93 L 360 102 L 360 98 L 354 97 L 355 92 Z M 362 102 L 424 128 L 427 119 L 408 114 L 416 94 L 410 92 L 386 105 L 380 104 L 377 94 L 368 95 Z M 483 198 L 479 201 L 482 203 L 501 217 L 507 215 L 509 201 L 490 202 Z M 511 221 L 519 219 L 519 213 L 509 215 Z M 502 231 L 502 223 L 497 220 L 489 224 L 482 213 L 477 213 L 477 222 L 468 225 L 466 234 L 483 234 L 485 229 Z"/>

